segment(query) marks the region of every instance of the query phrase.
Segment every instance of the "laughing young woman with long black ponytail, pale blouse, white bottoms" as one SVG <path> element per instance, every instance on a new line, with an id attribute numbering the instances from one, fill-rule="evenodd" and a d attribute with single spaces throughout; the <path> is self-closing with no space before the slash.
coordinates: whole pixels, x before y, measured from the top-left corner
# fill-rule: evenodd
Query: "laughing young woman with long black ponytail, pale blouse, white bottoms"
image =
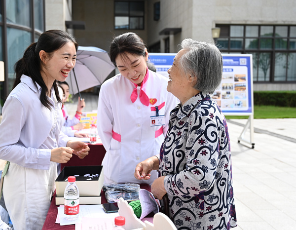
<path id="1" fill-rule="evenodd" d="M 68 33 L 46 31 L 15 65 L 16 79 L 2 110 L 0 158 L 10 161 L 3 182 L 5 205 L 15 230 L 40 230 L 57 177 L 57 163 L 89 147 L 69 141 L 63 125 L 63 81 L 74 68 L 77 43 Z"/>

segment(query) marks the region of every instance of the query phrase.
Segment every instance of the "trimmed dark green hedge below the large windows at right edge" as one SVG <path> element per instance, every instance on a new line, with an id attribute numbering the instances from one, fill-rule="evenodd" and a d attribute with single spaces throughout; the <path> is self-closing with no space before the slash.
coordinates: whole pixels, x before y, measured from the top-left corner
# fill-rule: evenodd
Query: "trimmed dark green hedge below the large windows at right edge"
<path id="1" fill-rule="evenodd" d="M 296 91 L 255 91 L 254 105 L 296 107 Z"/>

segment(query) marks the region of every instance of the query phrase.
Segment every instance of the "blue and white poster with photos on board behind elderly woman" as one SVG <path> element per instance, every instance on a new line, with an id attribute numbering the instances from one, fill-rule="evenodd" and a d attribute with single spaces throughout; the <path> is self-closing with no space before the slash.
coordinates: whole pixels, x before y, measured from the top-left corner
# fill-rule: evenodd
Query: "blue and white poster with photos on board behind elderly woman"
<path id="1" fill-rule="evenodd" d="M 176 53 L 149 53 L 149 61 L 156 73 L 168 77 Z M 252 54 L 222 54 L 223 73 L 220 86 L 212 98 L 224 115 L 253 114 L 253 61 Z"/>

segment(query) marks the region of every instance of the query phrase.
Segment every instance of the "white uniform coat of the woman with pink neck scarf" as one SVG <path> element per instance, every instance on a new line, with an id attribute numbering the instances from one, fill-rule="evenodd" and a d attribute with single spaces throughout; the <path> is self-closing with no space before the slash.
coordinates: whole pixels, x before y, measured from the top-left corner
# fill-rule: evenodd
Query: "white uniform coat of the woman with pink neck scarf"
<path id="1" fill-rule="evenodd" d="M 144 91 L 149 99 L 156 103 L 145 106 L 141 103 L 140 86 L 137 87 L 138 98 L 132 103 L 130 96 L 134 84 L 120 74 L 105 81 L 100 89 L 98 103 L 98 134 L 106 149 L 103 159 L 104 183 L 148 183 L 158 177 L 157 171 L 151 172 L 148 181 L 139 181 L 134 177 L 136 165 L 150 156 L 159 154 L 164 135 L 168 130 L 170 111 L 175 108 L 178 100 L 169 93 L 168 78 L 150 70 Z M 159 110 L 159 115 L 165 115 L 165 124 L 160 136 L 155 138 L 155 132 L 161 126 L 150 126 L 150 116 L 156 112 L 151 107 L 165 103 Z M 112 130 L 121 136 L 121 142 L 112 138 Z"/>

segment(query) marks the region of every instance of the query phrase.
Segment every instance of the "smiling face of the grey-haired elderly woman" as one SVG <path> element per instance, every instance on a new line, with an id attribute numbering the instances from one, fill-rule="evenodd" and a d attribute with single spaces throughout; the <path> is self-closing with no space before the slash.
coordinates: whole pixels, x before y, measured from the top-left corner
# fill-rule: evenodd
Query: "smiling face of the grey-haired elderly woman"
<path id="1" fill-rule="evenodd" d="M 185 74 L 180 69 L 179 60 L 182 55 L 185 53 L 185 50 L 180 50 L 176 57 L 172 67 L 168 70 L 170 81 L 168 81 L 167 91 L 174 94 L 181 102 L 186 95 L 186 91 L 191 86 Z"/>

